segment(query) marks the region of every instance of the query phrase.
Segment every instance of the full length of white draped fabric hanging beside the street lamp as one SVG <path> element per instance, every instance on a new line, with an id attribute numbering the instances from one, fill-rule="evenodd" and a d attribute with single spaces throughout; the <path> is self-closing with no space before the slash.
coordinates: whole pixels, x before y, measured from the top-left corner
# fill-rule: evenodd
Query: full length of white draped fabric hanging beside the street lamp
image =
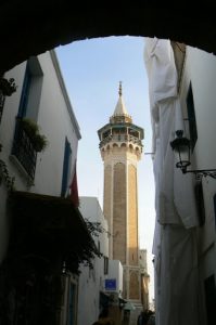
<path id="1" fill-rule="evenodd" d="M 155 180 L 155 300 L 157 325 L 198 325 L 198 225 L 193 182 L 176 168 L 170 141 L 183 130 L 169 40 L 145 38 Z"/>

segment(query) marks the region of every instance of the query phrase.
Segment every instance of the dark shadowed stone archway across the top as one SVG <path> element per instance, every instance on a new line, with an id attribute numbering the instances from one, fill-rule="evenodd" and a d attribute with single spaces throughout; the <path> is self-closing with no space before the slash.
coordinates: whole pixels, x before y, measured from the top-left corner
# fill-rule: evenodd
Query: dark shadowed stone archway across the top
<path id="1" fill-rule="evenodd" d="M 60 44 L 107 36 L 156 36 L 216 53 L 212 1 L 196 8 L 154 1 L 73 4 L 69 0 L 1 1 L 0 72 Z"/>

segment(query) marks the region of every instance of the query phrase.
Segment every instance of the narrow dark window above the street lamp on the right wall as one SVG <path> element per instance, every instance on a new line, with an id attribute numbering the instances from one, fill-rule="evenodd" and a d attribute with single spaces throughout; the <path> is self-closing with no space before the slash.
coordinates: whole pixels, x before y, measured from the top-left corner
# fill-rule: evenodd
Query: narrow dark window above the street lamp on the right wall
<path id="1" fill-rule="evenodd" d="M 192 92 L 191 83 L 189 86 L 189 91 L 188 91 L 188 95 L 187 95 L 187 110 L 188 110 L 191 150 L 193 152 L 195 142 L 198 140 L 198 130 L 196 130 L 195 109 L 194 109 L 193 92 Z"/>

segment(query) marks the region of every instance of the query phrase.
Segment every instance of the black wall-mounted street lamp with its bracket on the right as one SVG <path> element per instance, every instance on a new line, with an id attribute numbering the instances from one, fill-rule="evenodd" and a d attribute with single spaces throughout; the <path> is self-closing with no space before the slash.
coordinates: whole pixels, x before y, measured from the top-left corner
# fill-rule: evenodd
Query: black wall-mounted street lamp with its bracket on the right
<path id="1" fill-rule="evenodd" d="M 202 177 L 211 177 L 216 179 L 216 169 L 198 169 L 198 170 L 188 170 L 190 162 L 190 140 L 183 136 L 182 130 L 176 131 L 176 139 L 170 142 L 170 146 L 176 154 L 177 162 L 176 167 L 180 168 L 182 173 L 192 172 L 198 179 Z"/>

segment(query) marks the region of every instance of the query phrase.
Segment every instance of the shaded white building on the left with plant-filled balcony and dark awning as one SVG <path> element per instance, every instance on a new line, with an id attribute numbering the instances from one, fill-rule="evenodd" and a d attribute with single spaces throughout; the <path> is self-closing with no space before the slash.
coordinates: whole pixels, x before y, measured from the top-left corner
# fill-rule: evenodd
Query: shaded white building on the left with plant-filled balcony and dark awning
<path id="1" fill-rule="evenodd" d="M 10 78 L 17 89 L 4 96 Z M 0 83 L 0 323 L 71 324 L 79 261 L 93 249 L 76 208 L 79 127 L 53 50 Z M 43 151 L 36 126 L 48 141 Z"/>

